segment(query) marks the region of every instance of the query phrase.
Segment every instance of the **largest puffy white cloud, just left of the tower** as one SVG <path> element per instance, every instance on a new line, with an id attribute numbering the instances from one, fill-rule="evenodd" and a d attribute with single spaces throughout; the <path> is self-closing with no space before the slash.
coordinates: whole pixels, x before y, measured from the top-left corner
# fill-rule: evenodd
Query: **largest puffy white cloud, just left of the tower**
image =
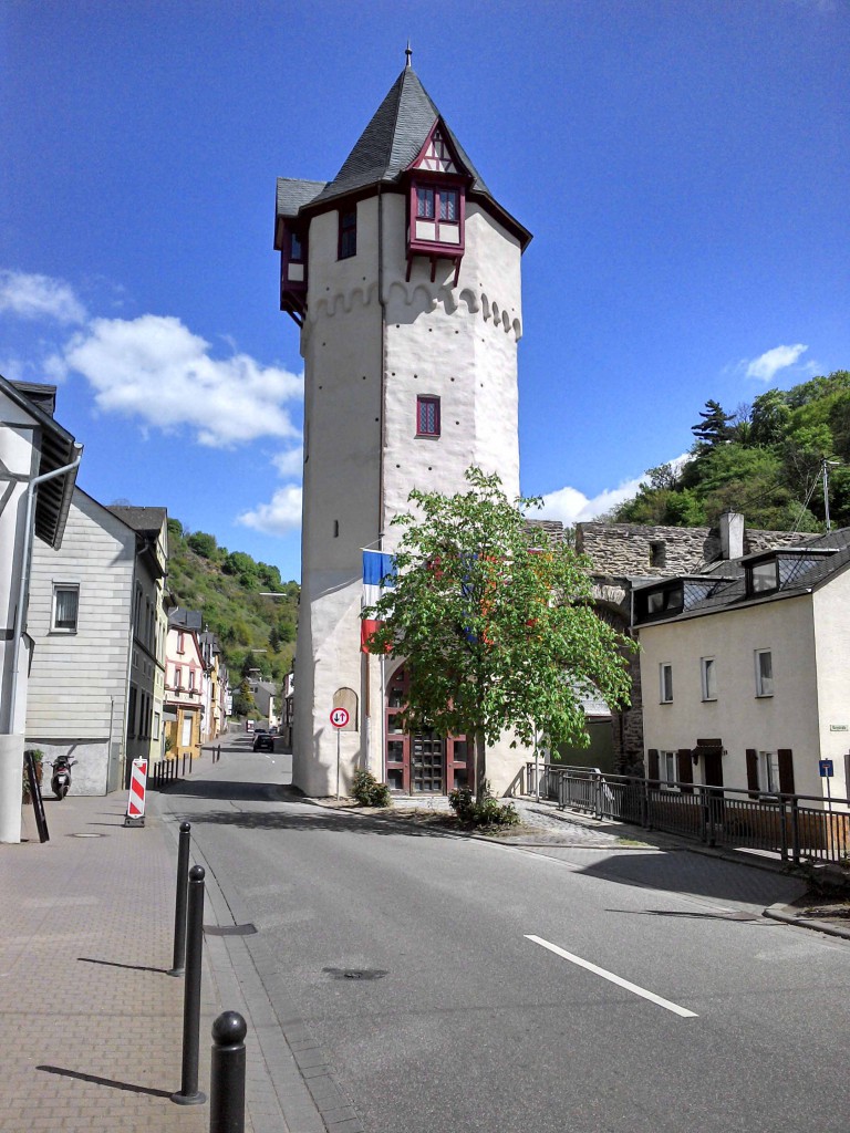
<path id="1" fill-rule="evenodd" d="M 284 408 L 303 395 L 298 375 L 244 353 L 213 358 L 179 318 L 95 318 L 68 343 L 65 360 L 88 380 L 103 411 L 163 432 L 186 426 L 204 445 L 299 435 Z"/>

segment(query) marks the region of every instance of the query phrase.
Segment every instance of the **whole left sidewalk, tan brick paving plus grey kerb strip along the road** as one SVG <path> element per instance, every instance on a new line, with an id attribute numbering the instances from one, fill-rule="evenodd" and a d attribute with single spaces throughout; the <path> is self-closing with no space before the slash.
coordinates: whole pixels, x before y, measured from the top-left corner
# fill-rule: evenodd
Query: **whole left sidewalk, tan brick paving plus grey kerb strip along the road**
<path id="1" fill-rule="evenodd" d="M 50 841 L 25 808 L 23 836 L 0 846 L 0 1012 L 7 1055 L 3 1133 L 206 1133 L 209 1101 L 179 1106 L 184 980 L 173 954 L 178 823 L 147 795 L 144 827 L 125 827 L 126 792 L 44 800 Z M 205 864 L 193 844 L 192 861 Z M 243 927 L 207 869 L 198 1089 L 209 1098 L 211 1028 L 248 1022 L 247 1133 L 351 1130 L 295 1021 L 284 1038 Z M 270 965 L 271 966 L 271 965 Z M 287 1042 L 289 1040 L 289 1043 Z M 308 1090 L 305 1077 L 311 1081 Z M 323 1121 L 314 1094 L 335 1108 Z M 320 1099 L 322 1100 L 322 1099 Z"/>

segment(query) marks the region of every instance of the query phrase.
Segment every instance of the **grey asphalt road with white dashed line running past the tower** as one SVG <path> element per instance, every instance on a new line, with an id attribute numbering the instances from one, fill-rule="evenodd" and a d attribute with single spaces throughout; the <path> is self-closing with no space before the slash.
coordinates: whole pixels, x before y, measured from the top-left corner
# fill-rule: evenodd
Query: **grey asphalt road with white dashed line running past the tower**
<path id="1" fill-rule="evenodd" d="M 848 1127 L 850 945 L 696 853 L 544 853 L 286 801 L 236 749 L 172 793 L 368 1133 Z"/>

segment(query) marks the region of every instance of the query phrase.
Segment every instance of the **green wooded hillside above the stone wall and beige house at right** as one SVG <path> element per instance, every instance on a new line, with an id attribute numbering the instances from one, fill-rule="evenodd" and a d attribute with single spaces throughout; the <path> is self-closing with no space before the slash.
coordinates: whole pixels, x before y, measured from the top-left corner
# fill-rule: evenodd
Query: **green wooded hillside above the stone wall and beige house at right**
<path id="1" fill-rule="evenodd" d="M 691 432 L 689 459 L 648 469 L 609 520 L 703 527 L 733 509 L 748 527 L 822 531 L 827 461 L 830 520 L 850 526 L 850 370 L 766 390 L 730 412 L 706 401 Z"/>

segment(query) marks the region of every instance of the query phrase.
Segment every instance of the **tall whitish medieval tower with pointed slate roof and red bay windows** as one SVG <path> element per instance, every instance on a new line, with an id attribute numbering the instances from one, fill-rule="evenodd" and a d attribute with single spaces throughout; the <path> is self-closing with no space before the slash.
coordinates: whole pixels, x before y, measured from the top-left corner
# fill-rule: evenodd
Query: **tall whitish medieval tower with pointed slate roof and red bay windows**
<path id="1" fill-rule="evenodd" d="M 462 743 L 393 733 L 403 674 L 360 651 L 363 550 L 391 552 L 390 521 L 410 489 L 453 493 L 470 465 L 518 493 L 529 239 L 409 53 L 332 181 L 278 180 L 280 305 L 300 327 L 305 363 L 294 778 L 308 794 L 335 792 L 338 751 L 343 793 L 358 766 L 400 790 L 445 792 L 465 778 Z M 339 734 L 334 707 L 350 715 Z M 522 756 L 487 758 L 498 787 Z"/>

